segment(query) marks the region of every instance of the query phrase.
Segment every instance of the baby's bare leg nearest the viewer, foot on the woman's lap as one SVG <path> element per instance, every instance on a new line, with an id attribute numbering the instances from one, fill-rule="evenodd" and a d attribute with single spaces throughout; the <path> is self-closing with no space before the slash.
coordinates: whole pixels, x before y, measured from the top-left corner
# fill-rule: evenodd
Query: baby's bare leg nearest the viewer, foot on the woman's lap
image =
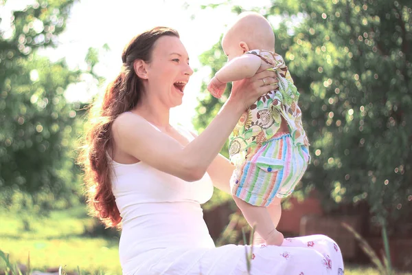
<path id="1" fill-rule="evenodd" d="M 251 204 L 233 196 L 236 205 L 249 225 L 255 225 L 256 232 L 262 236 L 267 245 L 281 245 L 284 240 L 282 233 L 278 232 L 272 222 L 271 215 L 265 207 L 252 206 Z"/>

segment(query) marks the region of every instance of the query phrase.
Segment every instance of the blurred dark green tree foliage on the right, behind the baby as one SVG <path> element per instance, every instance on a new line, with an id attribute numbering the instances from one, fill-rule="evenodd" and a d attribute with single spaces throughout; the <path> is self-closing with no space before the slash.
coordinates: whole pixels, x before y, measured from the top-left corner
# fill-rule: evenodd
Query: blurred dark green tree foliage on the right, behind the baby
<path id="1" fill-rule="evenodd" d="M 265 16 L 281 19 L 275 49 L 301 93 L 312 153 L 303 190 L 328 211 L 367 201 L 395 233 L 412 209 L 411 1 L 277 0 Z M 220 42 L 201 56 L 211 75 L 225 62 Z M 202 91 L 198 131 L 226 99 Z"/>

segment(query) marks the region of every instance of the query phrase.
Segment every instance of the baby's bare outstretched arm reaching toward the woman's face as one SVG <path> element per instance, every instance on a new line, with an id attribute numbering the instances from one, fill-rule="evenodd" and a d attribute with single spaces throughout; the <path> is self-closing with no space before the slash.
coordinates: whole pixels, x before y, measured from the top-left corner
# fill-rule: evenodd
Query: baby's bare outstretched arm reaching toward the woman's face
<path id="1" fill-rule="evenodd" d="M 244 54 L 233 58 L 211 78 L 207 89 L 212 96 L 220 98 L 225 91 L 226 83 L 251 78 L 258 72 L 260 65 L 262 65 L 262 59 L 254 54 Z"/>

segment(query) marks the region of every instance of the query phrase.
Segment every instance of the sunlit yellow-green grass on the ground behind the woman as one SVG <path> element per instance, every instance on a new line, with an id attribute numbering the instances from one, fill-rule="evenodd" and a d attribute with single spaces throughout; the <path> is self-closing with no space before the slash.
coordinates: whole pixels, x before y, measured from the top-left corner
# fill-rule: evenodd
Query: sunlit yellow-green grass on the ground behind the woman
<path id="1" fill-rule="evenodd" d="M 84 233 L 93 227 L 93 219 L 84 208 L 52 212 L 44 219 L 31 218 L 29 232 L 23 230 L 19 217 L 0 214 L 0 250 L 10 254 L 12 263 L 27 264 L 30 253 L 31 270 L 65 267 L 66 272 L 122 274 L 118 254 L 118 238 L 92 238 Z M 0 270 L 5 263 L 0 260 Z M 398 273 L 402 274 L 402 273 Z M 412 275 L 412 273 L 403 273 Z M 345 275 L 380 275 L 373 267 L 345 266 Z"/>

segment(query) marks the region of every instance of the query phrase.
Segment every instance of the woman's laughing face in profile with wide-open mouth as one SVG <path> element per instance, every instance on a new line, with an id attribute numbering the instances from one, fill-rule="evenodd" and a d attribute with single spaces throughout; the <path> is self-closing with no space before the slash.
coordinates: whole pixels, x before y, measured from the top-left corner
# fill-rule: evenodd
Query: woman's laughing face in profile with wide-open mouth
<path id="1" fill-rule="evenodd" d="M 158 96 L 167 107 L 180 105 L 193 70 L 185 46 L 178 37 L 161 36 L 156 41 L 147 70 L 150 94 Z"/>

